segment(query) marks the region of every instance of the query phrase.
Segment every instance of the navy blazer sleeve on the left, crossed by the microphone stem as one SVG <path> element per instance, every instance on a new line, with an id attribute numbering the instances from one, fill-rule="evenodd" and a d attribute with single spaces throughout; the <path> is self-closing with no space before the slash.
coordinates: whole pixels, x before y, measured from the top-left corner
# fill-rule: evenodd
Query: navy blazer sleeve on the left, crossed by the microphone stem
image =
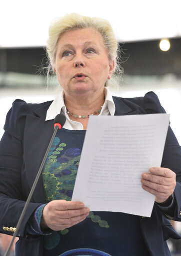
<path id="1" fill-rule="evenodd" d="M 21 187 L 26 114 L 27 104 L 22 100 L 15 100 L 7 113 L 5 132 L 0 140 L 0 232 L 11 235 L 26 200 Z M 39 205 L 39 203 L 29 203 L 18 236 L 26 236 L 27 220 Z M 12 227 L 11 230 L 10 227 Z"/>

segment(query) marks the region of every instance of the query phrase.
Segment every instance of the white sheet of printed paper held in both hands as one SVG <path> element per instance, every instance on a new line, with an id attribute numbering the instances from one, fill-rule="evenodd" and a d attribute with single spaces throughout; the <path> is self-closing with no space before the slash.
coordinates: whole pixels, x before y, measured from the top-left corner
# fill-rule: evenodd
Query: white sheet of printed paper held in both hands
<path id="1" fill-rule="evenodd" d="M 72 201 L 150 217 L 154 196 L 140 179 L 160 166 L 168 125 L 168 114 L 90 116 Z"/>

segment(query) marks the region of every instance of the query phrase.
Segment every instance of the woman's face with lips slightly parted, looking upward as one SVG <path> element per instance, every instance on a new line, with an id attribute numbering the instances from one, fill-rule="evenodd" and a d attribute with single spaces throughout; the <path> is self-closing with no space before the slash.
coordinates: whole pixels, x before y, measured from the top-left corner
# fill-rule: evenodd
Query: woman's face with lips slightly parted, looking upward
<path id="1" fill-rule="evenodd" d="M 65 94 L 103 92 L 113 67 L 94 29 L 65 32 L 57 43 L 54 72 Z"/>

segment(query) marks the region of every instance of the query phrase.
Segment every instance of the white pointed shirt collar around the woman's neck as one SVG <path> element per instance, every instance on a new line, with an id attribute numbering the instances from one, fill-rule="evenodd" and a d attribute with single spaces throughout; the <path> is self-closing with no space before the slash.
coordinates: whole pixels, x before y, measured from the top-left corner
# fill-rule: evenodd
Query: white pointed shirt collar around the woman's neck
<path id="1" fill-rule="evenodd" d="M 105 102 L 101 109 L 100 115 L 102 115 L 103 112 L 108 109 L 109 114 L 111 116 L 113 116 L 115 113 L 115 105 L 114 105 L 112 96 L 107 88 L 104 88 L 104 95 L 105 95 Z M 59 113 L 66 114 L 66 107 L 64 105 L 64 100 L 63 100 L 63 91 L 61 91 L 56 96 L 56 98 L 53 100 L 53 102 L 49 106 L 49 108 L 46 112 L 45 121 L 54 119 L 55 116 Z M 65 116 L 66 116 L 66 118 L 69 119 L 67 114 Z"/>

